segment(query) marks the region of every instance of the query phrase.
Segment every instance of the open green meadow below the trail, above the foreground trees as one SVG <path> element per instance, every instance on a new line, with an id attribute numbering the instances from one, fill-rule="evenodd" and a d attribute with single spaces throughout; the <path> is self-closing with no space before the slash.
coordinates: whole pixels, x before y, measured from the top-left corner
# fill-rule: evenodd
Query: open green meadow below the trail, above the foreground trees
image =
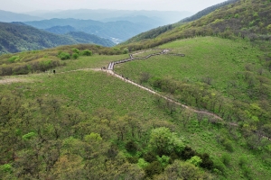
<path id="1" fill-rule="evenodd" d="M 27 78 L 26 78 L 27 79 Z M 146 119 L 164 117 L 154 105 L 154 95 L 134 85 L 127 84 L 105 72 L 77 71 L 56 75 L 30 76 L 33 83 L 12 84 L 29 98 L 54 94 L 67 100 L 66 105 L 78 107 L 83 112 L 94 112 L 104 107 L 118 115 L 136 112 Z M 7 88 L 2 85 L 2 88 Z M 9 87 L 8 87 L 9 88 Z M 136 100 L 136 101 L 135 101 Z"/>

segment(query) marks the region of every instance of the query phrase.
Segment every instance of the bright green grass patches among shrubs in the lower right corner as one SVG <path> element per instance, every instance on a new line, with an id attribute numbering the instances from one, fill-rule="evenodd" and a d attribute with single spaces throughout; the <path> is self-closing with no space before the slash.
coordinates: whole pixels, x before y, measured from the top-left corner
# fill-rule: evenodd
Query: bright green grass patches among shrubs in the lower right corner
<path id="1" fill-rule="evenodd" d="M 224 153 L 230 155 L 229 166 L 226 166 L 225 175 L 220 176 L 220 179 L 240 179 L 243 175 L 241 167 L 238 165 L 238 158 L 246 156 L 248 159 L 248 168 L 251 170 L 252 179 L 266 179 L 271 175 L 271 169 L 263 164 L 262 160 L 257 156 L 257 153 L 252 153 L 246 148 L 242 148 L 242 140 L 233 141 L 233 152 L 229 152 L 218 142 L 217 136 L 227 136 L 229 131 L 223 127 L 216 127 L 210 125 L 207 121 L 202 121 L 201 124 L 198 121 L 191 121 L 188 127 L 184 129 L 180 128 L 182 136 L 185 137 L 189 146 L 195 148 L 198 152 L 207 152 L 212 159 L 218 158 L 221 160 L 221 156 Z M 238 134 L 237 134 L 238 135 Z M 247 179 L 244 177 L 244 179 Z"/>

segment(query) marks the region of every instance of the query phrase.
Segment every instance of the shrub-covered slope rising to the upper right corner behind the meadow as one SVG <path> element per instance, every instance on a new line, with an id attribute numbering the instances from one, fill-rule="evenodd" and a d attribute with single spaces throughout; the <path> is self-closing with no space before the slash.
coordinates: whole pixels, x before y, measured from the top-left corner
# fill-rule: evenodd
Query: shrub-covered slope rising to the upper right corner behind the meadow
<path id="1" fill-rule="evenodd" d="M 168 41 L 192 38 L 196 36 L 218 36 L 227 39 L 241 37 L 250 41 L 270 41 L 269 0 L 238 1 L 234 4 L 201 17 L 191 23 L 165 31 L 154 39 L 131 42 L 123 46 L 129 49 L 148 49 Z M 151 36 L 151 35 L 150 35 Z"/>

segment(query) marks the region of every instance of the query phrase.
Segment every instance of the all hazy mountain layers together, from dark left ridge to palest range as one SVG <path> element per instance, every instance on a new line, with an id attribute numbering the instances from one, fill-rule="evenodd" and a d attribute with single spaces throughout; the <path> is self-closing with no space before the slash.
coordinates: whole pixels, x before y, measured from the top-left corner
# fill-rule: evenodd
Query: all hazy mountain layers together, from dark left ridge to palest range
<path id="1" fill-rule="evenodd" d="M 0 22 L 4 22 L 1 23 L 0 33 L 1 53 L 44 49 L 72 43 L 113 46 L 143 31 L 178 22 L 190 14 L 189 12 L 89 9 L 37 11 L 29 14 L 0 11 Z M 16 25 L 7 23 L 16 23 Z M 24 34 L 21 33 L 22 31 Z M 42 40 L 42 37 L 46 37 L 47 40 Z"/>

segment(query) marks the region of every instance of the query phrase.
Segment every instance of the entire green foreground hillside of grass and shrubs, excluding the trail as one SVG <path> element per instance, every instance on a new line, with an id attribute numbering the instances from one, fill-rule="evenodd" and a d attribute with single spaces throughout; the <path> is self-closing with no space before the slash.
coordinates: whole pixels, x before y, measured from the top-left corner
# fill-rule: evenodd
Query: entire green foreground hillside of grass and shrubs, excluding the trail
<path id="1" fill-rule="evenodd" d="M 36 55 L 75 53 L 75 48 L 87 47 L 65 46 Z M 105 71 L 92 71 L 89 68 L 97 70 L 128 55 L 108 56 L 103 54 L 110 49 L 88 48 L 92 56 L 64 60 L 66 66 L 57 67 L 55 75 L 49 71 L 14 76 L 10 79 L 25 82 L 0 85 L 0 148 L 5 152 L 0 157 L 1 178 L 268 179 L 271 175 L 266 138 L 270 73 L 261 64 L 263 51 L 245 40 L 205 37 L 160 47 L 185 57 L 161 55 L 117 66 L 119 74 L 195 109 L 215 112 L 223 118 L 219 120 L 183 109 Z M 117 54 L 118 49 L 112 50 Z M 257 91 L 262 93 L 251 94 Z"/>

